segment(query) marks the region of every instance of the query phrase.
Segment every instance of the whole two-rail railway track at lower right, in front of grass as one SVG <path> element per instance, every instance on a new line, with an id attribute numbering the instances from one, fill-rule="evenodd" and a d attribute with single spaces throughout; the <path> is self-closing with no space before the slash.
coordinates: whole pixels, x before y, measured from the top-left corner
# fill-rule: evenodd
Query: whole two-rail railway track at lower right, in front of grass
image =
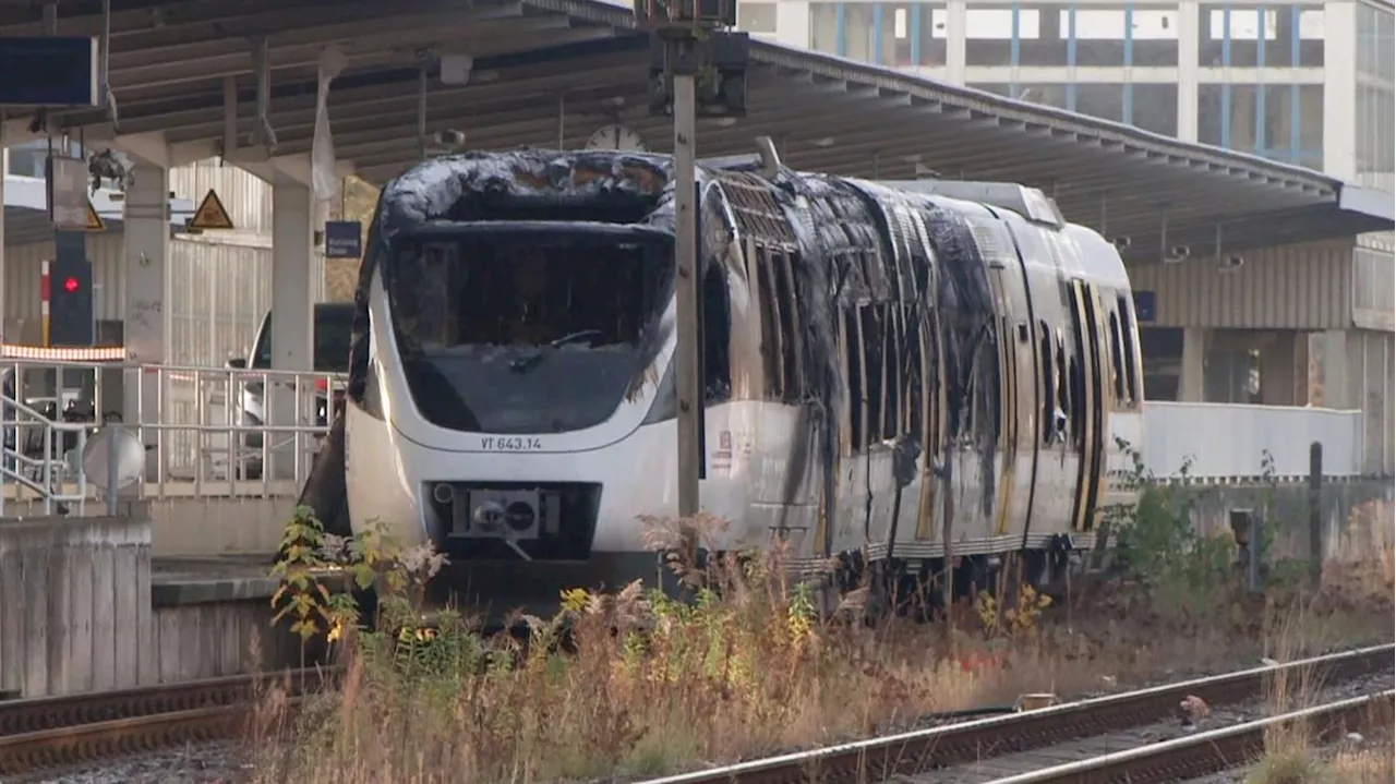
<path id="1" fill-rule="evenodd" d="M 1333 686 L 1392 668 L 1396 668 L 1396 644 L 1372 646 L 1025 713 L 758 759 L 656 778 L 644 784 L 805 784 L 812 780 L 822 784 L 875 783 L 906 781 L 907 777 L 927 771 L 940 771 L 926 778 L 926 781 L 933 778 L 938 781 L 944 773 L 949 773 L 945 769 L 970 766 L 1134 727 L 1148 727 L 1170 718 L 1178 720 L 1178 706 L 1188 696 L 1201 698 L 1212 707 L 1233 706 L 1263 700 L 1275 678 L 1280 675 L 1290 678 L 1290 682 L 1298 682 L 1307 675 L 1311 681 Z M 1198 732 L 1185 738 L 1092 756 L 1085 762 L 1055 764 L 1034 773 L 1009 776 L 995 780 L 994 784 L 1180 781 L 1194 776 L 1195 770 L 1202 770 L 1199 774 L 1224 770 L 1224 767 L 1203 770 L 1203 763 L 1198 760 L 1208 757 L 1208 752 L 1189 745 L 1189 742 L 1195 744 L 1196 738 L 1219 744 L 1210 753 L 1213 766 L 1219 764 L 1219 760 L 1235 766 L 1254 756 L 1254 751 L 1261 748 L 1265 727 L 1275 723 L 1295 721 L 1302 714 L 1329 721 L 1319 728 L 1326 731 L 1325 728 L 1329 725 L 1360 724 L 1357 720 L 1368 720 L 1371 709 L 1378 703 L 1386 704 L 1392 700 L 1396 700 L 1396 692 L 1337 700 L 1307 711 L 1248 721 L 1224 730 Z M 1170 753 L 1174 756 L 1157 756 Z M 1097 773 L 1083 767 L 1089 762 L 1100 766 Z M 1124 773 L 1118 773 L 1120 770 Z M 1033 776 L 1048 771 L 1055 771 L 1053 774 L 1058 777 L 1033 778 Z"/>

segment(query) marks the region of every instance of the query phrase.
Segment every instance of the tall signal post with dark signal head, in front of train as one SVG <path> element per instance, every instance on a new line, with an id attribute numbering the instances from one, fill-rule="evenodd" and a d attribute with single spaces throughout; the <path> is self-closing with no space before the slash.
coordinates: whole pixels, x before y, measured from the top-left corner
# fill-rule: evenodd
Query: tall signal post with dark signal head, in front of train
<path id="1" fill-rule="evenodd" d="M 740 117 L 747 110 L 747 33 L 736 0 L 634 0 L 635 22 L 652 33 L 649 110 L 674 119 L 674 296 L 678 403 L 678 516 L 698 513 L 704 384 L 701 271 L 698 268 L 697 119 Z M 692 532 L 684 532 L 691 548 Z"/>

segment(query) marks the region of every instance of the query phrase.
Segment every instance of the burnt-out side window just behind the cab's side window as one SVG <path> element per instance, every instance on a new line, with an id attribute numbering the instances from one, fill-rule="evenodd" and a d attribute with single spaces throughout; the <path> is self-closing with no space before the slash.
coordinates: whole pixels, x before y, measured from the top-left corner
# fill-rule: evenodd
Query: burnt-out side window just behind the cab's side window
<path id="1" fill-rule="evenodd" d="M 766 393 L 772 400 L 799 402 L 804 384 L 792 259 L 785 252 L 764 247 L 755 250 L 755 257 Z"/>

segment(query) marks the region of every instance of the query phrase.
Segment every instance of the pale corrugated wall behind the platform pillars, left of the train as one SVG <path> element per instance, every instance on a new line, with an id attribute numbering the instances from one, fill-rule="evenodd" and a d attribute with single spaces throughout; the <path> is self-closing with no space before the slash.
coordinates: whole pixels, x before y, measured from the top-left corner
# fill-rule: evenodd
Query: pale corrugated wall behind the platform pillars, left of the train
<path id="1" fill-rule="evenodd" d="M 124 315 L 121 234 L 88 236 L 99 319 Z M 53 258 L 53 243 L 6 248 L 7 332 L 20 342 L 39 339 L 39 271 Z M 221 365 L 246 354 L 253 332 L 271 307 L 271 247 L 233 244 L 222 236 L 170 241 L 172 364 Z"/>

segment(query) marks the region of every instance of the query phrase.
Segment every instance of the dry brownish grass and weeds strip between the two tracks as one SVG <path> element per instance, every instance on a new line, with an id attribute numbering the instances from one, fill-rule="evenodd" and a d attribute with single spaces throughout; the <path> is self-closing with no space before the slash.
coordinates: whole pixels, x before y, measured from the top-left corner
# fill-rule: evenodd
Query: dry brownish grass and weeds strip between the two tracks
<path id="1" fill-rule="evenodd" d="M 295 724 L 279 692 L 264 700 L 248 737 L 255 780 L 655 776 L 866 737 L 933 711 L 1011 703 L 1025 692 L 1099 692 L 1262 654 L 1297 658 L 1367 642 L 1389 632 L 1392 619 L 1381 601 L 1375 617 L 1365 603 L 1396 585 L 1382 571 L 1344 569 L 1316 598 L 1235 598 L 1215 618 L 1185 626 L 1145 617 L 1125 598 L 1131 589 L 1114 586 L 1087 605 L 1053 607 L 1041 617 L 1016 608 L 1026 622 L 1013 625 L 986 622 L 984 604 L 980 612 L 960 608 L 946 636 L 903 621 L 875 629 L 821 621 L 811 591 L 786 580 L 779 564 L 779 551 L 745 565 L 725 561 L 705 575 L 716 590 L 698 590 L 691 604 L 639 586 L 570 593 L 558 617 L 525 618 L 528 644 L 483 638 L 451 612 L 430 639 L 410 631 L 350 635 L 336 643 L 349 661 L 339 692 L 310 702 Z M 697 578 L 692 569 L 681 573 Z M 408 601 L 395 601 L 383 603 L 385 628 L 415 617 Z M 998 608 L 1007 610 L 1015 608 Z M 557 653 L 564 628 L 565 654 Z M 1276 688 L 1304 695 L 1312 686 Z M 292 744 L 272 742 L 286 732 Z M 1276 738 L 1282 746 L 1298 748 Z M 1282 755 L 1272 756 L 1280 766 Z M 1284 773 L 1298 763 L 1284 764 L 1259 784 L 1307 781 Z"/>

